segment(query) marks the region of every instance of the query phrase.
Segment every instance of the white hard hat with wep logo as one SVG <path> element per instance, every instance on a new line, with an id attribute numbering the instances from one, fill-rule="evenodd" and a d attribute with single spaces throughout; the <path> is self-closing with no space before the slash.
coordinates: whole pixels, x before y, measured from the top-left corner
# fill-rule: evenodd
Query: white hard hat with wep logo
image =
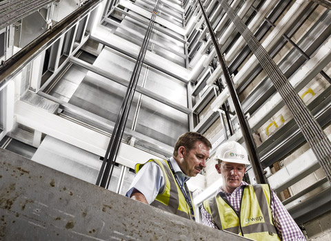
<path id="1" fill-rule="evenodd" d="M 214 159 L 223 160 L 228 163 L 250 165 L 246 149 L 233 140 L 222 143 L 219 148 L 217 148 Z"/>

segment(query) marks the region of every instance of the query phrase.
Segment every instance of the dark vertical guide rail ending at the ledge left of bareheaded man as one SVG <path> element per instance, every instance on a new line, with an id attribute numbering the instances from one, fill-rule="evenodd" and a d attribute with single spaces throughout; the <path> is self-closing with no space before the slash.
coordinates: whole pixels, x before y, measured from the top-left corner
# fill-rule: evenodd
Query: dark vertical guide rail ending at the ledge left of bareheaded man
<path id="1" fill-rule="evenodd" d="M 117 153 L 119 151 L 119 145 L 121 143 L 121 138 L 123 136 L 124 129 L 126 127 L 126 121 L 128 119 L 128 114 L 130 112 L 130 107 L 132 103 L 132 99 L 134 96 L 134 92 L 137 87 L 137 83 L 139 80 L 139 75 L 141 72 L 141 67 L 143 65 L 143 59 L 145 58 L 146 51 L 148 48 L 148 42 L 150 41 L 150 34 L 152 33 L 152 29 L 154 26 L 155 18 L 157 15 L 157 10 L 159 9 L 159 0 L 157 1 L 154 10 L 152 12 L 152 17 L 150 18 L 150 23 L 146 30 L 146 35 L 143 39 L 143 43 L 141 45 L 141 49 L 139 55 L 137 57 L 137 61 L 134 65 L 134 70 L 132 72 L 132 76 L 130 78 L 130 83 L 128 85 L 128 90 L 126 92 L 126 96 L 123 99 L 123 103 L 121 105 L 121 109 L 119 111 L 119 116 L 117 117 L 117 121 L 115 123 L 114 131 L 112 132 L 112 137 L 110 138 L 110 143 L 108 145 L 105 158 L 103 159 L 103 163 L 101 165 L 101 169 L 99 171 L 99 176 L 97 178 L 97 185 L 100 187 L 105 187 L 108 189 L 110 178 L 112 176 L 113 165 L 117 158 Z"/>

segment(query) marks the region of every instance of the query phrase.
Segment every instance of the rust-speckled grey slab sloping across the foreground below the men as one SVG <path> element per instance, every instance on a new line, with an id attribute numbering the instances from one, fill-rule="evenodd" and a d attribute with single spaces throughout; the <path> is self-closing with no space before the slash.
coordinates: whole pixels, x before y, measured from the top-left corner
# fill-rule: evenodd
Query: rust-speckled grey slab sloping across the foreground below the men
<path id="1" fill-rule="evenodd" d="M 0 149 L 0 240 L 246 240 Z"/>

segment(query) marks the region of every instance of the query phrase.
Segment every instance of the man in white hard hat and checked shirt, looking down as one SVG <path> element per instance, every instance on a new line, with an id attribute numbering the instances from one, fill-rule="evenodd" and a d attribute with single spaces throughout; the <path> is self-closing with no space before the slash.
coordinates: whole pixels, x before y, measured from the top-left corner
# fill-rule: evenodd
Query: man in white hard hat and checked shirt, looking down
<path id="1" fill-rule="evenodd" d="M 203 202 L 203 224 L 252 240 L 305 240 L 269 185 L 243 181 L 246 166 L 250 165 L 243 146 L 235 141 L 223 143 L 214 159 L 223 184 L 216 196 Z"/>

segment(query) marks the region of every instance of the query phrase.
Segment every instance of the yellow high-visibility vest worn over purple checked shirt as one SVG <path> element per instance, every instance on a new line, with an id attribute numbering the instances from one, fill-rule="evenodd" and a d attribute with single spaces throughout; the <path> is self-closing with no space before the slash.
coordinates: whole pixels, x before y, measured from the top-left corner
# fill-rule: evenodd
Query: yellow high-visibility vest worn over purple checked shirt
<path id="1" fill-rule="evenodd" d="M 269 185 L 249 185 L 243 189 L 239 213 L 219 194 L 203 202 L 219 229 L 252 240 L 281 240 L 277 235 L 270 209 Z"/>

